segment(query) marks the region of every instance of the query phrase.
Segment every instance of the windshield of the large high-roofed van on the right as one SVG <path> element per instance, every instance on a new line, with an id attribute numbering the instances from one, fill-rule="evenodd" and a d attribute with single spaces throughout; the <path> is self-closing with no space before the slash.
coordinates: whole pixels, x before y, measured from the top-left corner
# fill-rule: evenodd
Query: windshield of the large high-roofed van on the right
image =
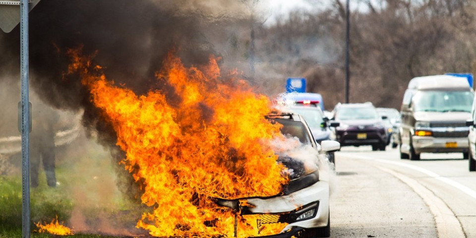
<path id="1" fill-rule="evenodd" d="M 420 91 L 413 98 L 415 112 L 471 112 L 470 91 Z"/>

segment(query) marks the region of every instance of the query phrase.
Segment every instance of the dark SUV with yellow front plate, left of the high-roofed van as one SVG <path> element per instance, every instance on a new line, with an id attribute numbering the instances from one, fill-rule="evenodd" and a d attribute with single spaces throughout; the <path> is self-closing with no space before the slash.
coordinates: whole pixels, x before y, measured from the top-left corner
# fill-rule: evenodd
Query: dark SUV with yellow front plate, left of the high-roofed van
<path id="1" fill-rule="evenodd" d="M 371 103 L 338 104 L 334 109 L 334 120 L 340 122 L 336 128 L 336 139 L 341 146 L 371 145 L 372 150 L 385 150 L 387 131 L 382 119 Z"/>

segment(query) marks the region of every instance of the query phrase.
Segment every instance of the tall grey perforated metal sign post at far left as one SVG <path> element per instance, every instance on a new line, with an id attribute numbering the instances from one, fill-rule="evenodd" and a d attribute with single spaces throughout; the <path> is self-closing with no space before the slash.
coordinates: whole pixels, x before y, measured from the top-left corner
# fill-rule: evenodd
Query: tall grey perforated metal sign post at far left
<path id="1" fill-rule="evenodd" d="M 30 122 L 28 105 L 28 0 L 20 3 L 22 238 L 30 238 Z"/>

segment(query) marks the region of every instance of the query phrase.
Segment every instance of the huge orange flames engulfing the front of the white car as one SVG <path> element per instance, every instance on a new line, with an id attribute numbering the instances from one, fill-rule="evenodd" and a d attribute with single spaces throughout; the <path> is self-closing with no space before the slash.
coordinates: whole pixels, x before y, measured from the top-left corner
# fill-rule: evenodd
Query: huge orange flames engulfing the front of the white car
<path id="1" fill-rule="evenodd" d="M 80 76 L 113 126 L 126 153 L 122 162 L 141 186 L 142 202 L 154 208 L 137 228 L 158 237 L 232 237 L 236 211 L 214 198 L 283 193 L 290 173 L 277 163 L 270 141 L 288 138 L 279 124 L 264 118 L 270 100 L 253 93 L 237 74 L 221 76 L 213 57 L 206 67 L 186 68 L 170 54 L 156 73 L 157 83 L 173 91 L 174 97 L 166 97 L 162 91 L 136 95 L 127 85 L 114 85 L 80 51 L 69 51 L 68 73 Z M 259 234 L 283 227 L 267 224 Z M 238 237 L 256 236 L 256 218 L 240 217 L 238 231 Z"/>

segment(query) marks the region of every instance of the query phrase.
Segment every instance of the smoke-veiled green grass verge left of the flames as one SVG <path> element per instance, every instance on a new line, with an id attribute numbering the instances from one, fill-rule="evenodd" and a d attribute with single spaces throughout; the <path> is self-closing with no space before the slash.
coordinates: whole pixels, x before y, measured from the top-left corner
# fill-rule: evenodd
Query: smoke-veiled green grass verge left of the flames
<path id="1" fill-rule="evenodd" d="M 116 169 L 109 152 L 102 147 L 87 144 L 87 149 L 72 148 L 70 151 L 57 153 L 56 188 L 46 184 L 45 174 L 40 170 L 39 186 L 30 189 L 32 238 L 113 238 L 113 236 L 79 234 L 74 226 L 68 224 L 80 211 L 82 223 L 91 233 L 107 234 L 102 222 L 106 221 L 112 228 L 125 228 L 133 234 L 144 234 L 134 230 L 136 221 L 143 212 L 150 211 L 137 201 L 131 201 L 116 186 Z M 22 191 L 21 176 L 18 172 L 0 175 L 0 238 L 21 238 L 22 229 Z M 50 223 L 58 220 L 70 227 L 75 235 L 55 236 L 39 234 L 34 223 Z M 81 229 L 78 229 L 81 230 Z M 142 233 L 141 233 L 142 232 Z M 145 233 L 147 234 L 147 233 Z"/>

